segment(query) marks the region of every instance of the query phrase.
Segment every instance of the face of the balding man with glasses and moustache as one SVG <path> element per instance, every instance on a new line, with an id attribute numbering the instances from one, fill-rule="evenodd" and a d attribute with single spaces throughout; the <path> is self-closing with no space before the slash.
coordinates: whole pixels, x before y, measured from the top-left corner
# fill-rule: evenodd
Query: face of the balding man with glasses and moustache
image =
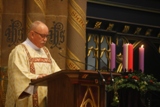
<path id="1" fill-rule="evenodd" d="M 46 42 L 48 37 L 48 27 L 45 25 L 40 25 L 37 29 L 32 30 L 32 42 L 38 47 L 42 48 Z"/>

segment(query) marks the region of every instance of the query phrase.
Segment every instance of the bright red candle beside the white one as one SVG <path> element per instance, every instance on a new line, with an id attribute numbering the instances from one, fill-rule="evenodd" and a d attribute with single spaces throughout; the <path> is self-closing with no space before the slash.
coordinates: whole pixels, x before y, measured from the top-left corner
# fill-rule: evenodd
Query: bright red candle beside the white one
<path id="1" fill-rule="evenodd" d="M 128 71 L 133 72 L 133 45 L 128 45 Z"/>

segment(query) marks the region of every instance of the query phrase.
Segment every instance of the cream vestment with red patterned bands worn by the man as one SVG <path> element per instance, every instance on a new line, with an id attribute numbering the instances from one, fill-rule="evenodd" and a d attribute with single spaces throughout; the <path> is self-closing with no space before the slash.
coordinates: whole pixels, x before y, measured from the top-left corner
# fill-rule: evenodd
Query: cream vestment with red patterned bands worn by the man
<path id="1" fill-rule="evenodd" d="M 33 106 L 33 95 L 23 99 L 18 98 L 29 87 L 31 79 L 36 79 L 38 74 L 51 74 L 57 71 L 60 71 L 60 68 L 47 48 L 35 50 L 26 44 L 16 46 L 10 53 L 8 61 L 5 107 L 46 107 L 47 87 L 45 86 L 37 88 L 35 96 L 38 95 L 38 106 Z"/>

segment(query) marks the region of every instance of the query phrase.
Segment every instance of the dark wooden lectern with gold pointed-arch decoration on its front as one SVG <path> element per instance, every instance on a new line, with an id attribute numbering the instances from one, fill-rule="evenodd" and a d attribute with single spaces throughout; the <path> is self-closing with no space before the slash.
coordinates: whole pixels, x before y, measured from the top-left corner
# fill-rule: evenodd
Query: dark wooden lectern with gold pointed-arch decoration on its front
<path id="1" fill-rule="evenodd" d="M 110 73 L 101 73 L 108 83 Z M 31 85 L 48 86 L 48 107 L 106 107 L 106 83 L 101 80 L 97 71 L 62 70 Z"/>

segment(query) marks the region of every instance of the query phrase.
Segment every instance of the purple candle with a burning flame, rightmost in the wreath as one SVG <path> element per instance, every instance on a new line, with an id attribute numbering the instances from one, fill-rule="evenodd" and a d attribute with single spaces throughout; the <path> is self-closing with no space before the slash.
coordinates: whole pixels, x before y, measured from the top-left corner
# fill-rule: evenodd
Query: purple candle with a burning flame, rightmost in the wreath
<path id="1" fill-rule="evenodd" d="M 144 72 L 144 48 L 143 48 L 143 45 L 139 48 L 139 70 Z"/>

